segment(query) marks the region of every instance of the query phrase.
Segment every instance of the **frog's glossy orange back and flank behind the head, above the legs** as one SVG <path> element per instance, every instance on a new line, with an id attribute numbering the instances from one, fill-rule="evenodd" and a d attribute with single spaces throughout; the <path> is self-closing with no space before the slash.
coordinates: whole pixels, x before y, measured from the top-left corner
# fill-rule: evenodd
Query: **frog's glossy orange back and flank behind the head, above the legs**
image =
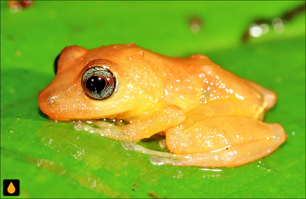
<path id="1" fill-rule="evenodd" d="M 264 96 L 258 90 L 205 55 L 162 57 L 164 64 L 157 71 L 163 82 L 163 102 L 176 104 L 186 112 L 225 99 L 253 100 L 265 106 Z"/>

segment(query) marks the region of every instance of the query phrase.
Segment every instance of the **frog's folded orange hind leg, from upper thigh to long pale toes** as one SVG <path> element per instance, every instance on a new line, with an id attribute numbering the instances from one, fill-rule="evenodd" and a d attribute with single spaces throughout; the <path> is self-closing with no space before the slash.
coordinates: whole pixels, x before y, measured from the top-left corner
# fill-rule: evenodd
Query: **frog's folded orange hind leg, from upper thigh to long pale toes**
<path id="1" fill-rule="evenodd" d="M 258 121 L 263 113 L 264 107 L 252 100 L 215 101 L 191 110 L 183 123 L 166 130 L 166 145 L 173 153 L 121 144 L 151 155 L 155 165 L 239 166 L 272 153 L 287 137 L 281 125 Z"/>

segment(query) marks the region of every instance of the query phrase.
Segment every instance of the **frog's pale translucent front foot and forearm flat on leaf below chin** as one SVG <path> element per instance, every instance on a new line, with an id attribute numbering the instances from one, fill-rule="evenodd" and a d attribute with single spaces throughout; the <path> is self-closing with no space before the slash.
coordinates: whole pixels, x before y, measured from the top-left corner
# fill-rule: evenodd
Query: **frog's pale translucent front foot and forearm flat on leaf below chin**
<path id="1" fill-rule="evenodd" d="M 95 120 L 86 121 L 86 123 L 81 121 L 74 122 L 73 127 L 76 130 L 87 131 L 98 136 L 104 136 L 113 140 L 130 140 L 129 136 L 125 133 L 122 127 L 117 126 L 115 124 Z M 89 124 L 93 124 L 99 128 L 94 128 Z"/>

